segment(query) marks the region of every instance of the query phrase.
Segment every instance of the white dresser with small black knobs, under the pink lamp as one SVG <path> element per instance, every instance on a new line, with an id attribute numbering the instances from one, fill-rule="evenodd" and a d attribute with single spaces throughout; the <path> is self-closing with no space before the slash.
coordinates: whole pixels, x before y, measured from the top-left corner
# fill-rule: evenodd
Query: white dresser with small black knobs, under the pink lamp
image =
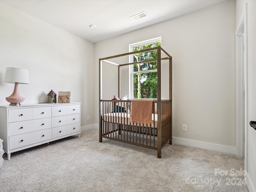
<path id="1" fill-rule="evenodd" d="M 81 133 L 80 103 L 0 106 L 0 138 L 11 153 Z"/>

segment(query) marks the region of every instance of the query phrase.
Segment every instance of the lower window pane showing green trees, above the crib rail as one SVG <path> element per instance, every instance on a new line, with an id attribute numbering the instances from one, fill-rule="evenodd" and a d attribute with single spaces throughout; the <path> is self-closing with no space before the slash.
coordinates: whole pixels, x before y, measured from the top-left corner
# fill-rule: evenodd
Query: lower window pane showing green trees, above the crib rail
<path id="1" fill-rule="evenodd" d="M 133 75 L 134 98 L 157 98 L 157 72 Z"/>

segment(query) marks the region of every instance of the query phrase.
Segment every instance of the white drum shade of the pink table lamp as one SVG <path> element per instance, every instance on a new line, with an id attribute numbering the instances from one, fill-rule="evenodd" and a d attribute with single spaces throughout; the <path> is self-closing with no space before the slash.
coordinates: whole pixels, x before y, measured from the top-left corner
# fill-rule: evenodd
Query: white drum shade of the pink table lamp
<path id="1" fill-rule="evenodd" d="M 29 84 L 28 70 L 22 68 L 7 67 L 4 82 Z"/>

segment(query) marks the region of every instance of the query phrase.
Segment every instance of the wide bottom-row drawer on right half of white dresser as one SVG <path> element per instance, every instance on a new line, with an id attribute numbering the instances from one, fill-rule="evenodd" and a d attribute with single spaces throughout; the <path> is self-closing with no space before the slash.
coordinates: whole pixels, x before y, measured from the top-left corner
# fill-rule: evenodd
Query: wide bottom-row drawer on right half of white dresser
<path id="1" fill-rule="evenodd" d="M 80 123 L 52 128 L 52 138 L 80 132 Z"/>

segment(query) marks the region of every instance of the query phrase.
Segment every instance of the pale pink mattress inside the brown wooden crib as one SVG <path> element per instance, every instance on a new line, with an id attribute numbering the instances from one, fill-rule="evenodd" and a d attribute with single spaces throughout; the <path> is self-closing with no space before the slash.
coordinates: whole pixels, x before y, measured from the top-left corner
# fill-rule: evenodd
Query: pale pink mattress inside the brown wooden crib
<path id="1" fill-rule="evenodd" d="M 126 112 L 107 113 L 102 116 L 102 119 L 105 122 L 112 122 L 112 123 L 118 123 L 123 125 L 133 125 L 133 122 L 130 122 L 130 113 L 126 113 Z M 136 123 L 134 123 L 134 126 L 136 126 Z M 152 114 L 152 124 L 148 124 L 148 125 L 137 124 L 137 126 L 157 128 L 157 114 Z"/>

